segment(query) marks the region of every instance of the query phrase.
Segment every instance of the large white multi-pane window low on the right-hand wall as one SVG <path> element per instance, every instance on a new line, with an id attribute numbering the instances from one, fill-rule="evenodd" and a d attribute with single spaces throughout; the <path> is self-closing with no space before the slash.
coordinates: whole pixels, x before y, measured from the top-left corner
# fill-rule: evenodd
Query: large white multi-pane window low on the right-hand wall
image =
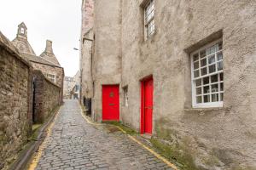
<path id="1" fill-rule="evenodd" d="M 221 107 L 224 97 L 222 41 L 191 54 L 193 107 Z"/>

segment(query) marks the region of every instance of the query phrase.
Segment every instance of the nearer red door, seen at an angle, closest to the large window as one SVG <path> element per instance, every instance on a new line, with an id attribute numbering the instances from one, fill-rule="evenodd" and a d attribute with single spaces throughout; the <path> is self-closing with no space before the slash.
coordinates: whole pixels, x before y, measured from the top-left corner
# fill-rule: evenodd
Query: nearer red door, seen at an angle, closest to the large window
<path id="1" fill-rule="evenodd" d="M 141 133 L 152 133 L 153 91 L 153 78 L 142 82 Z"/>

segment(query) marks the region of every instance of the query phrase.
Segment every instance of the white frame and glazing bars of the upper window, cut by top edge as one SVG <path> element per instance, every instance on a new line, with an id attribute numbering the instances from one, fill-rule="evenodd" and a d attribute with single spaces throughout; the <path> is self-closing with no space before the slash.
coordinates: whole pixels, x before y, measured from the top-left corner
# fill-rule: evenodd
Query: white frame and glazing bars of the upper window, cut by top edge
<path id="1" fill-rule="evenodd" d="M 153 5 L 153 10 L 151 11 L 150 14 L 153 13 L 153 16 L 152 18 L 150 18 L 149 20 L 146 20 L 147 17 L 150 15 L 148 14 L 147 15 L 147 8 L 148 6 L 150 5 Z M 154 25 L 154 0 L 148 0 L 148 3 L 146 3 L 146 5 L 144 6 L 143 8 L 143 12 L 144 12 L 144 37 L 145 37 L 145 40 L 147 40 L 149 37 L 152 37 L 155 33 L 155 25 Z M 151 34 L 148 34 L 148 29 L 149 29 L 149 25 L 152 24 L 152 26 L 150 26 L 150 28 L 152 27 L 153 31 L 151 31 L 150 33 Z"/>

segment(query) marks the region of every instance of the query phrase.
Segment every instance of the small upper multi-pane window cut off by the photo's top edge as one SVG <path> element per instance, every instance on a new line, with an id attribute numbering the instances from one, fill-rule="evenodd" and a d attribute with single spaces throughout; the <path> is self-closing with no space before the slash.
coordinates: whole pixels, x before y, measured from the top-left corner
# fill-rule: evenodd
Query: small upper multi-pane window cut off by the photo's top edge
<path id="1" fill-rule="evenodd" d="M 154 0 L 149 0 L 144 8 L 145 38 L 154 35 Z"/>

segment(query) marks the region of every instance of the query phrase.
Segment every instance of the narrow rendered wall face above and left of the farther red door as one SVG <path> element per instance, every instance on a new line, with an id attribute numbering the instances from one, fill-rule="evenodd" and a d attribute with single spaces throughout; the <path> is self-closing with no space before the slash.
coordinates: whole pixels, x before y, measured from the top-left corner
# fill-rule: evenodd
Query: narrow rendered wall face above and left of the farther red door
<path id="1" fill-rule="evenodd" d="M 95 2 L 92 116 L 102 121 L 102 85 L 121 82 L 121 0 Z"/>

